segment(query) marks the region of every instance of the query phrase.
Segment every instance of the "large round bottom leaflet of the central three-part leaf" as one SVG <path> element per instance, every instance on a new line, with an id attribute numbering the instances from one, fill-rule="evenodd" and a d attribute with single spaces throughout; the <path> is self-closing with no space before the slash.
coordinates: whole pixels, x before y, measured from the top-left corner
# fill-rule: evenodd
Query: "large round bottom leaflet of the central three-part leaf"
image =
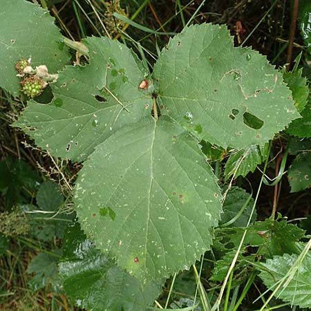
<path id="1" fill-rule="evenodd" d="M 75 205 L 97 247 L 144 283 L 200 258 L 221 209 L 197 142 L 165 116 L 126 126 L 100 144 L 79 174 Z"/>

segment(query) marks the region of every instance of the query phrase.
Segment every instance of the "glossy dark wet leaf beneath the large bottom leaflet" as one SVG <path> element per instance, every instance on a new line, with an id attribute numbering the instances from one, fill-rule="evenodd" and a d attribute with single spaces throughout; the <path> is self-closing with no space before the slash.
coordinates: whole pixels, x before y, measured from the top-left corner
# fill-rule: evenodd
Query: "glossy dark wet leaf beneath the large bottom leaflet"
<path id="1" fill-rule="evenodd" d="M 66 294 L 80 307 L 93 311 L 146 311 L 160 294 L 157 283 L 142 287 L 95 249 L 79 225 L 68 229 L 64 242 L 59 274 Z"/>

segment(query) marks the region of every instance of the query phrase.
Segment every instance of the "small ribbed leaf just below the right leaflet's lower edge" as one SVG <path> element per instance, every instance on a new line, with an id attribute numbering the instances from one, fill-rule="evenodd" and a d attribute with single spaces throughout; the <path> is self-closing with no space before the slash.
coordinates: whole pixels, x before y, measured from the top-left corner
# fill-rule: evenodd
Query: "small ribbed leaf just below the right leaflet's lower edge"
<path id="1" fill-rule="evenodd" d="M 252 145 L 249 148 L 234 151 L 228 158 L 225 164 L 225 176 L 229 179 L 234 175 L 245 177 L 247 173 L 254 172 L 258 164 L 261 164 L 267 158 L 269 144 L 264 147 Z"/>

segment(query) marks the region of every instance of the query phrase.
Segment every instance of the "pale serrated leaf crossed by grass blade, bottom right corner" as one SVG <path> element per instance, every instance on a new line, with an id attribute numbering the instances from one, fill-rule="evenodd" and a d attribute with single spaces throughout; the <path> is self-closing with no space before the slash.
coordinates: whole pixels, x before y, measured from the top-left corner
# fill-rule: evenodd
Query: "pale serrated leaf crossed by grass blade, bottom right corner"
<path id="1" fill-rule="evenodd" d="M 274 290 L 276 283 L 281 281 L 292 265 L 294 265 L 298 255 L 284 254 L 274 256 L 263 263 L 263 269 L 259 276 L 268 288 Z M 288 276 L 286 277 L 286 279 Z M 299 305 L 300 308 L 309 308 L 311 305 L 311 258 L 306 256 L 300 263 L 298 270 L 288 285 L 276 292 L 276 296 L 292 305 Z"/>

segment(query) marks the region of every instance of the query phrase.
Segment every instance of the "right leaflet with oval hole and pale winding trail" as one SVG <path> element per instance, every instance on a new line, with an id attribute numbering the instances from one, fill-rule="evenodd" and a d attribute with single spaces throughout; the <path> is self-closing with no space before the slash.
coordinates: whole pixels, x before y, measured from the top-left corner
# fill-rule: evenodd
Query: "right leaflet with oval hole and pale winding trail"
<path id="1" fill-rule="evenodd" d="M 233 48 L 225 26 L 173 37 L 153 79 L 163 112 L 222 147 L 263 144 L 299 117 L 281 73 L 250 48 Z"/>

